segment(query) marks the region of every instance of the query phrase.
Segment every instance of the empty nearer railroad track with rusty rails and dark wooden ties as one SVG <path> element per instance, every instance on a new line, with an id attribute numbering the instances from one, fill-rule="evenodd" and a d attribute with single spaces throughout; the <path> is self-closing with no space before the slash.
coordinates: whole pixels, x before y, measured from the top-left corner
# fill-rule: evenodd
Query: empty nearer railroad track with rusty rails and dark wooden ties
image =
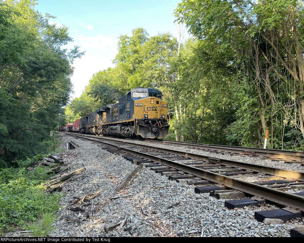
<path id="1" fill-rule="evenodd" d="M 121 142 L 109 138 L 90 135 L 69 134 L 77 138 L 87 139 L 100 144 L 109 152 L 122 155 L 133 163 L 147 163 L 155 172 L 166 175 L 170 180 L 187 181 L 195 185 L 195 192 L 206 193 L 216 197 L 235 199 L 253 196 L 253 198 L 226 201 L 227 207 L 244 207 L 270 201 L 284 205 L 275 214 L 289 219 L 302 217 L 304 212 L 304 193 L 287 193 L 279 190 L 287 185 L 304 187 L 304 173 L 287 169 L 261 166 L 228 159 L 203 156 L 195 153 L 173 149 L 155 148 L 154 146 L 138 145 L 133 142 Z M 250 178 L 263 178 L 250 182 Z M 248 179 L 249 178 L 249 179 Z M 234 201 L 234 200 L 233 200 Z M 242 201 L 242 202 L 240 202 Z M 228 205 L 229 204 L 229 205 Z M 268 212 L 268 211 L 265 211 Z M 266 213 L 265 213 L 266 215 Z M 263 221 L 267 216 L 264 212 L 257 214 L 257 220 Z"/>

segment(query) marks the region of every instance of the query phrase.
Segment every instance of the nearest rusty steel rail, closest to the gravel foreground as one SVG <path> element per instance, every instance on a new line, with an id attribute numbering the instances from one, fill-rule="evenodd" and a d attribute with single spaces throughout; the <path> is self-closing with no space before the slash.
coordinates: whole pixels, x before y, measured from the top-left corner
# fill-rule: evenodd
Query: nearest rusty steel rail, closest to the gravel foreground
<path id="1" fill-rule="evenodd" d="M 176 169 L 180 169 L 185 173 L 190 173 L 195 176 L 204 178 L 206 180 L 210 180 L 215 183 L 223 184 L 226 187 L 233 188 L 235 190 L 240 190 L 250 195 L 264 197 L 265 200 L 271 201 L 273 203 L 282 204 L 287 207 L 298 208 L 301 211 L 304 211 L 304 197 L 282 192 L 273 188 L 263 187 L 261 185 L 257 185 L 250 182 L 245 182 L 239 179 L 230 178 L 229 176 L 224 176 L 218 173 L 214 173 L 208 170 L 199 169 L 196 167 L 192 167 L 189 165 L 185 165 L 183 163 L 174 162 L 169 159 L 160 158 L 157 156 L 149 155 L 143 152 L 134 151 L 132 149 L 123 148 L 118 145 L 113 145 L 108 142 L 103 142 L 97 139 L 82 137 L 83 139 L 91 140 L 97 143 L 105 144 L 106 146 L 119 149 L 123 152 L 131 153 L 136 156 L 143 157 L 145 159 L 150 159 L 152 161 L 162 163 L 167 166 L 175 167 Z"/>

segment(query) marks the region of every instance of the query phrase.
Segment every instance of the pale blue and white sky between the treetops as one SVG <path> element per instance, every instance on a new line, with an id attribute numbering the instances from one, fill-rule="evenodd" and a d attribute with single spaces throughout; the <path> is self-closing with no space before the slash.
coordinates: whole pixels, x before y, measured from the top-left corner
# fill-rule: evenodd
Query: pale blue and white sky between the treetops
<path id="1" fill-rule="evenodd" d="M 171 8 L 177 2 L 181 0 L 170 0 Z M 93 74 L 115 67 L 112 60 L 117 54 L 119 36 L 131 36 L 132 30 L 139 27 L 150 36 L 167 32 L 177 36 L 168 0 L 38 0 L 37 3 L 35 10 L 56 16 L 50 23 L 69 28 L 74 42 L 64 48 L 78 46 L 80 52 L 85 51 L 72 65 L 72 98 L 81 95 Z"/>

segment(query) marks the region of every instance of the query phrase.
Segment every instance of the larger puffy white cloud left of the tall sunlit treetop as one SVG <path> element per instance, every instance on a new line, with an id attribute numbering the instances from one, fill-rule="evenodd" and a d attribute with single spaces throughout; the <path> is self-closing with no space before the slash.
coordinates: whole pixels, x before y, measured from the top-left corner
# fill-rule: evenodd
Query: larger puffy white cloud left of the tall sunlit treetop
<path id="1" fill-rule="evenodd" d="M 93 48 L 97 50 L 105 50 L 106 48 L 116 49 L 117 40 L 111 36 L 103 36 L 98 34 L 96 36 L 77 36 L 81 42 L 81 46 L 85 48 Z"/>

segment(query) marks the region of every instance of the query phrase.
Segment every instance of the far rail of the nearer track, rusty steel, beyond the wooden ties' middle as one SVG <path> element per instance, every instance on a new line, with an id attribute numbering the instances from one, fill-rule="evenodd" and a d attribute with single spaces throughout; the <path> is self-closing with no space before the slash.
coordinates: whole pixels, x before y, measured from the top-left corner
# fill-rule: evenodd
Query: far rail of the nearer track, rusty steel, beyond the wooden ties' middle
<path id="1" fill-rule="evenodd" d="M 71 134 L 71 135 L 74 135 L 74 134 Z M 94 136 L 87 136 L 87 135 L 77 135 L 77 136 L 96 138 Z M 122 141 L 113 140 L 113 139 L 104 138 L 104 137 L 98 137 L 98 139 L 106 139 L 106 140 L 110 140 L 110 141 L 122 142 Z M 257 164 L 245 163 L 245 162 L 240 162 L 240 161 L 233 161 L 233 160 L 229 160 L 229 159 L 204 156 L 204 155 L 199 155 L 199 154 L 190 153 L 190 152 L 183 152 L 183 151 L 179 151 L 179 150 L 175 150 L 175 149 L 163 149 L 163 148 L 152 147 L 152 146 L 148 146 L 148 145 L 136 144 L 133 142 L 123 141 L 123 143 L 133 145 L 133 146 L 139 146 L 139 147 L 143 147 L 143 148 L 151 149 L 151 150 L 157 149 L 157 151 L 173 153 L 173 154 L 176 154 L 179 156 L 184 156 L 184 157 L 192 158 L 192 159 L 202 159 L 205 161 L 213 159 L 213 160 L 219 161 L 220 164 L 225 165 L 225 166 L 240 167 L 242 169 L 252 170 L 255 172 L 265 173 L 265 174 L 274 175 L 274 176 L 280 176 L 280 177 L 284 177 L 284 178 L 288 178 L 288 179 L 304 181 L 304 173 L 300 172 L 300 171 L 293 171 L 293 170 L 288 170 L 288 169 L 281 169 L 281 168 L 275 168 L 275 167 L 270 167 L 270 166 L 261 166 L 261 165 L 257 165 Z"/>

